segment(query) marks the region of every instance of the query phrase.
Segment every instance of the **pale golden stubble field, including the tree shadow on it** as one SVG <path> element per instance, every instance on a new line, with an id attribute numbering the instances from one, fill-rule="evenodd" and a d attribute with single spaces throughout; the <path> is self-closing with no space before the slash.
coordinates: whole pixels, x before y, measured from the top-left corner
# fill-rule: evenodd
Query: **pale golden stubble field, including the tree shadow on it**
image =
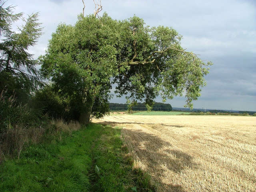
<path id="1" fill-rule="evenodd" d="M 256 191 L 256 117 L 106 116 L 157 191 Z"/>

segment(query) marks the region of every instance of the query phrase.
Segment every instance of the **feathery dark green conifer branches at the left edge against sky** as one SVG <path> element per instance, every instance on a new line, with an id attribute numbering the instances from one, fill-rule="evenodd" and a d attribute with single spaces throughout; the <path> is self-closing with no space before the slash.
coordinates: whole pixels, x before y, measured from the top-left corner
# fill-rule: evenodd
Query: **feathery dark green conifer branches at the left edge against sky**
<path id="1" fill-rule="evenodd" d="M 13 14 L 13 6 L 4 7 L 0 0 L 0 90 L 7 89 L 6 95 L 16 92 L 18 101 L 25 101 L 40 82 L 40 72 L 36 69 L 38 61 L 28 53 L 40 37 L 41 27 L 38 13 L 22 17 L 22 13 Z M 17 20 L 25 23 L 13 31 L 12 24 Z"/>

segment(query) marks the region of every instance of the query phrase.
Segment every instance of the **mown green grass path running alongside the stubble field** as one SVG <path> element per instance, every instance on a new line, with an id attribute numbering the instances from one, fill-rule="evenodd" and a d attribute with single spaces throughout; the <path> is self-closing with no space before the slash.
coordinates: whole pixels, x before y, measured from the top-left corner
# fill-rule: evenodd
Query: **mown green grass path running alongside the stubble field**
<path id="1" fill-rule="evenodd" d="M 124 158 L 118 128 L 90 124 L 48 140 L 0 165 L 0 191 L 152 191 Z"/>

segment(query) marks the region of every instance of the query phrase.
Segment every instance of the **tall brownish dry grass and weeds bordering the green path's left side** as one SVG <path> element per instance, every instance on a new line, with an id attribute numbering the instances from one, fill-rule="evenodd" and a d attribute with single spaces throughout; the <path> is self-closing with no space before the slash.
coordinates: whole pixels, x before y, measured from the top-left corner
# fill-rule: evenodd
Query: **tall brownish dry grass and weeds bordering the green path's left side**
<path id="1" fill-rule="evenodd" d="M 9 97 L 5 93 L 2 90 L 0 94 L 0 162 L 6 156 L 20 159 L 24 145 L 43 142 L 46 135 L 61 139 L 62 133 L 71 134 L 80 129 L 76 121 L 49 120 L 48 116 L 42 116 L 40 110 L 34 110 L 27 104 L 17 104 L 15 93 Z"/>

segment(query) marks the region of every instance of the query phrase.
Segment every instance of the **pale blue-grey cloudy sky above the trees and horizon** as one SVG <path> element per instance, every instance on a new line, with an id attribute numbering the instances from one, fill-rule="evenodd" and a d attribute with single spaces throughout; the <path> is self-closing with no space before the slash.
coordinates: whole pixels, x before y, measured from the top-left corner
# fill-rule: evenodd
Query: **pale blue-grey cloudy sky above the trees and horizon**
<path id="1" fill-rule="evenodd" d="M 85 3 L 85 14 L 92 14 L 93 0 Z M 8 0 L 10 4 L 16 5 L 15 12 L 40 13 L 44 35 L 30 49 L 35 58 L 44 54 L 57 25 L 74 24 L 83 7 L 82 0 Z M 102 6 L 114 19 L 135 14 L 146 25 L 173 27 L 183 36 L 183 48 L 214 63 L 194 108 L 256 111 L 256 0 L 102 0 Z M 111 102 L 125 101 L 114 97 Z M 185 98 L 167 103 L 182 107 Z"/>

